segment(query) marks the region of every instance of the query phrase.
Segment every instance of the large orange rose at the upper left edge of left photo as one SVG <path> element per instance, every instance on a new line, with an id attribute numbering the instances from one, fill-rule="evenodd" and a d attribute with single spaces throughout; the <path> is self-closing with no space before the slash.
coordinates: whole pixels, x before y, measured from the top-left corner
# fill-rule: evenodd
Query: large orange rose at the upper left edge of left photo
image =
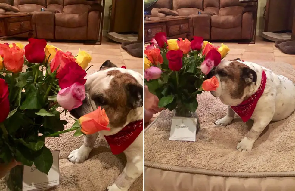
<path id="1" fill-rule="evenodd" d="M 13 43 L 13 47 L 0 44 L 0 52 L 3 54 L 3 64 L 8 71 L 21 72 L 23 69 L 25 51 Z"/>

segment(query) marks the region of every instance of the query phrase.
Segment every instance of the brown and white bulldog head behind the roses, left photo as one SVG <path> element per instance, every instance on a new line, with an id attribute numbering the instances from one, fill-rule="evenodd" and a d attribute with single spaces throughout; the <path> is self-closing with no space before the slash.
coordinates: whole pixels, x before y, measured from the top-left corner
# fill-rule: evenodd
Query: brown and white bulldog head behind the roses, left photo
<path id="1" fill-rule="evenodd" d="M 70 113 L 79 118 L 101 106 L 110 120 L 110 127 L 123 127 L 129 112 L 143 106 L 143 79 L 133 72 L 117 68 L 107 60 L 98 72 L 86 77 L 86 98 Z"/>

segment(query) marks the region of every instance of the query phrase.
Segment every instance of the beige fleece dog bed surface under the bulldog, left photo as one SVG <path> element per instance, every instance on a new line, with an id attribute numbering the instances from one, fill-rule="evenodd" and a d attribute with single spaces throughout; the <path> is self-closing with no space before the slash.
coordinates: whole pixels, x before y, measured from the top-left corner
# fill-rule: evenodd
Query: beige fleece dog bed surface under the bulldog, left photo
<path id="1" fill-rule="evenodd" d="M 65 119 L 64 114 L 61 119 Z M 74 120 L 69 117 L 67 128 L 71 128 Z M 73 137 L 74 131 L 62 134 L 59 138 L 48 138 L 46 146 L 51 150 L 60 150 L 60 186 L 49 190 L 87 190 L 104 191 L 107 186 L 113 184 L 116 177 L 120 175 L 126 165 L 126 157 L 122 153 L 113 155 L 107 143 L 98 139 L 89 158 L 80 164 L 73 164 L 67 160 L 67 156 L 74 149 L 78 149 L 83 144 L 84 136 Z M 0 190 L 8 190 L 4 180 L 0 181 Z M 131 186 L 129 191 L 143 190 L 143 176 L 139 177 Z"/>

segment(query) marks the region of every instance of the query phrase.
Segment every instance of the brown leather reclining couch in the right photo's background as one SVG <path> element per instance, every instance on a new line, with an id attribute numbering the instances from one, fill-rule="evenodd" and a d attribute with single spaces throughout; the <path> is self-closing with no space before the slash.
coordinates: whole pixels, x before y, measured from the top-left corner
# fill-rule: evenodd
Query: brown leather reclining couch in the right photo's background
<path id="1" fill-rule="evenodd" d="M 165 0 L 161 0 L 161 5 L 164 4 L 162 1 Z M 248 40 L 254 34 L 255 7 L 252 3 L 240 3 L 239 0 L 173 0 L 172 9 L 179 16 L 190 17 L 193 35 L 207 40 Z"/>

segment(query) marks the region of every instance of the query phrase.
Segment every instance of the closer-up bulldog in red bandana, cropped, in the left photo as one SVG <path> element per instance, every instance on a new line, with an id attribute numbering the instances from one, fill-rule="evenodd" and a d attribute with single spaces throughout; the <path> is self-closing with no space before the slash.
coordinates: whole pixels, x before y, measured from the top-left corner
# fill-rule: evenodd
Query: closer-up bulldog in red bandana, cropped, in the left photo
<path id="1" fill-rule="evenodd" d="M 143 173 L 143 83 L 141 74 L 118 68 L 107 60 L 98 72 L 86 77 L 86 98 L 70 113 L 79 118 L 101 106 L 110 120 L 110 131 L 99 131 L 113 154 L 124 152 L 127 163 L 108 191 L 127 191 Z M 98 133 L 86 135 L 84 144 L 73 150 L 68 160 L 85 161 L 92 151 Z"/>

